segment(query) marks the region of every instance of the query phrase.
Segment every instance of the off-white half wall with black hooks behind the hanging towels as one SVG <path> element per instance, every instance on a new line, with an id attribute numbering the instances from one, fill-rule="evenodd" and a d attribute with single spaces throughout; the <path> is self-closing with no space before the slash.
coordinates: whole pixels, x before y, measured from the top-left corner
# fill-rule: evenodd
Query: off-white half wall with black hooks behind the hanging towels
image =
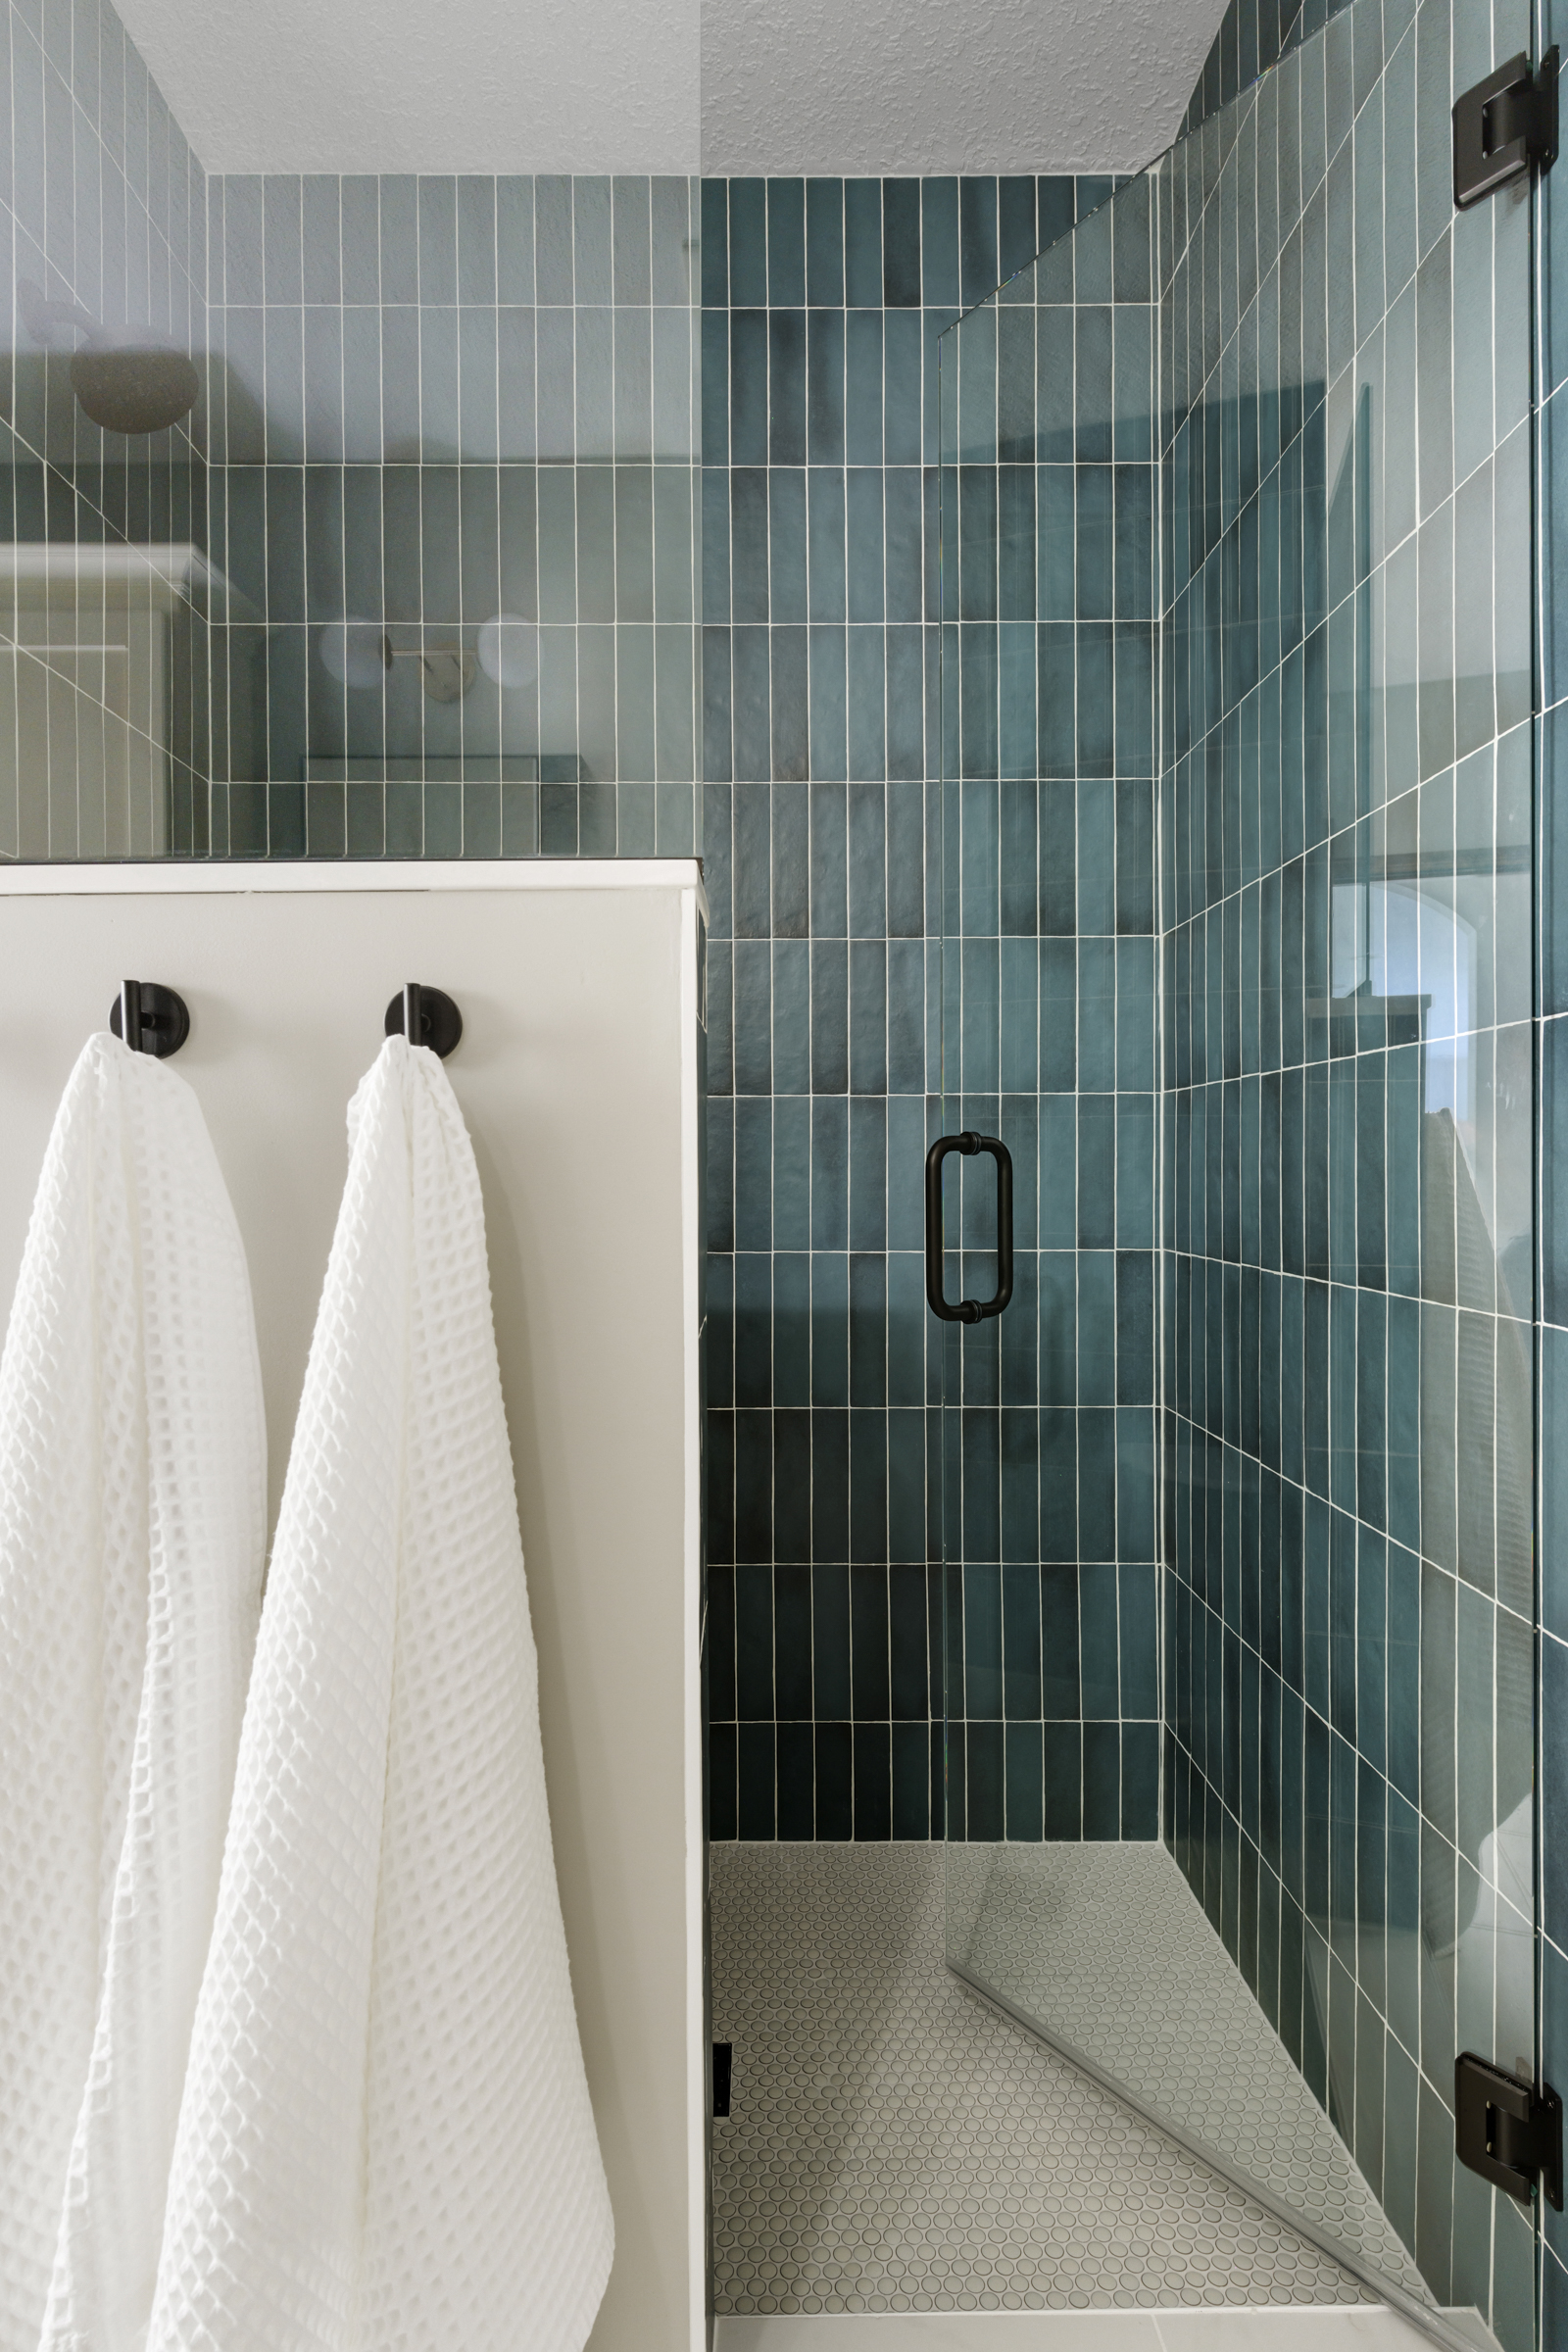
<path id="1" fill-rule="evenodd" d="M 555 1863 L 616 2209 L 590 2352 L 696 2352 L 705 2333 L 698 903 L 682 858 L 0 868 L 0 1312 L 85 1037 L 127 971 L 179 988 L 174 1068 L 252 1270 L 273 1512 L 348 1096 L 404 978 L 463 1011 L 447 1075 L 484 1188 Z"/>

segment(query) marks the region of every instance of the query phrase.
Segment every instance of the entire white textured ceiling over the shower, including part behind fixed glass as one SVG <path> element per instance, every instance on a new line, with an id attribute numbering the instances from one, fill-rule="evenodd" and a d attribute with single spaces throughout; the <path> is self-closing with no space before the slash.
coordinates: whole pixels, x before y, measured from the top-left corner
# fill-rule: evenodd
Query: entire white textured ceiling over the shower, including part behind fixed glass
<path id="1" fill-rule="evenodd" d="M 120 14 L 209 172 L 1128 172 L 1175 134 L 1222 0 Z"/>

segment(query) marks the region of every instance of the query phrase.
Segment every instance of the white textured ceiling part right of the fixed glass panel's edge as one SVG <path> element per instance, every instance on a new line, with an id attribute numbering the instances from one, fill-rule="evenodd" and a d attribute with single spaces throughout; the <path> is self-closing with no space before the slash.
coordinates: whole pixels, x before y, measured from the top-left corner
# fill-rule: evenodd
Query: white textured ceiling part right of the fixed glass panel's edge
<path id="1" fill-rule="evenodd" d="M 1225 0 L 703 0 L 703 172 L 1135 172 Z"/>

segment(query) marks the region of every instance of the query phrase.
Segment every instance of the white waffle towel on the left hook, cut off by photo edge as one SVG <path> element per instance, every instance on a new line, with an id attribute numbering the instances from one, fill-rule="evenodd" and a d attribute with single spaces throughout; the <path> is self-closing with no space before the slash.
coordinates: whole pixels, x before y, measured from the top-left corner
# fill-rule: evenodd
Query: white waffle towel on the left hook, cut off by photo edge
<path id="1" fill-rule="evenodd" d="M 266 1548 L 244 1249 L 190 1087 L 71 1073 L 0 1359 L 0 2347 L 153 2305 Z"/>

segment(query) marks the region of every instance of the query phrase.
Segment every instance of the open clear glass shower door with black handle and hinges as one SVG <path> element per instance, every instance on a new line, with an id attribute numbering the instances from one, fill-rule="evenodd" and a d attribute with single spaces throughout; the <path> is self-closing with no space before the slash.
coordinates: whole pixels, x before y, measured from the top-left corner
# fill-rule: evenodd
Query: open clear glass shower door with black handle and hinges
<path id="1" fill-rule="evenodd" d="M 940 346 L 940 1131 L 1013 1164 L 943 1324 L 947 1959 L 1523 2352 L 1455 2060 L 1537 2077 L 1530 195 L 1455 214 L 1446 92 L 1528 26 L 1429 14 Z"/>

